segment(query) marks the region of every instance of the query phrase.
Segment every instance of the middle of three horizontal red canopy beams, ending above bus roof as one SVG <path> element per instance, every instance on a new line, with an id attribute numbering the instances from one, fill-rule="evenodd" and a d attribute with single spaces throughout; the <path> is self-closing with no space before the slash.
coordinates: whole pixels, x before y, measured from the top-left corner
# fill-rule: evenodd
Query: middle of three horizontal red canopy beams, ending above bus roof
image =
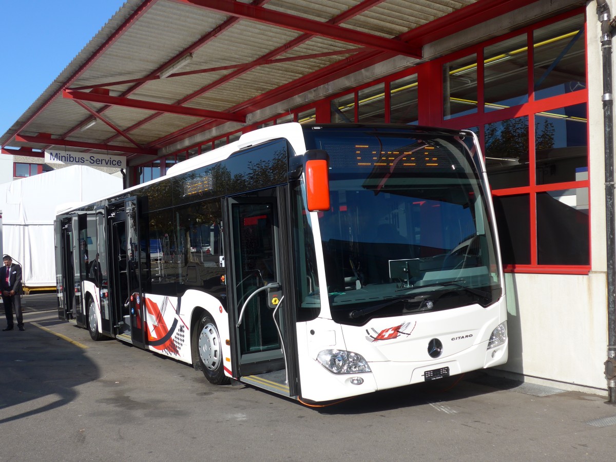
<path id="1" fill-rule="evenodd" d="M 153 101 L 143 101 L 120 96 L 107 96 L 84 91 L 74 91 L 64 89 L 62 96 L 68 99 L 90 101 L 94 103 L 110 104 L 115 106 L 131 107 L 147 111 L 166 112 L 192 117 L 226 120 L 231 122 L 246 122 L 246 116 L 230 114 L 228 112 L 208 111 L 205 109 L 179 106 L 175 104 L 156 103 Z"/>

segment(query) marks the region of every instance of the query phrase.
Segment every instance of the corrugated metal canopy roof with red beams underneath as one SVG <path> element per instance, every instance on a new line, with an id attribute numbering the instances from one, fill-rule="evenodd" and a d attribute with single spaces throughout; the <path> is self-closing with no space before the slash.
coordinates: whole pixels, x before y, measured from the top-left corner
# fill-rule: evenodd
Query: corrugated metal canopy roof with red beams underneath
<path id="1" fill-rule="evenodd" d="M 530 2 L 506 1 L 512 7 Z M 2 147 L 29 146 L 40 149 L 46 144 L 17 142 L 14 137 L 17 134 L 38 137 L 40 133 L 46 133 L 59 139 L 54 140 L 54 144 L 60 146 L 62 143 L 81 141 L 96 143 L 99 147 L 110 145 L 134 148 L 131 141 L 102 121 L 80 131 L 79 128 L 91 120 L 92 115 L 75 101 L 63 98 L 62 89 L 103 86 L 108 89 L 110 97 L 128 97 L 140 102 L 227 112 L 235 107 L 249 105 L 251 100 L 266 92 L 301 81 L 316 71 L 331 67 L 351 56 L 354 49 L 363 49 L 363 44 L 357 41 L 349 43 L 344 34 L 331 38 L 294 30 L 296 25 L 310 25 L 310 21 L 339 25 L 338 31 L 346 34 L 351 31 L 371 34 L 377 41 L 376 38 L 396 38 L 418 26 L 428 25 L 453 14 L 463 7 L 473 4 L 477 4 L 476 7 L 482 4 L 493 6 L 496 1 L 256 0 L 251 3 L 261 5 L 265 12 L 280 12 L 294 17 L 293 21 L 279 22 L 278 25 L 248 18 L 234 18 L 230 14 L 212 10 L 219 4 L 233 6 L 233 3 L 229 0 L 126 1 L 60 76 L 54 79 L 46 91 L 0 138 L 0 144 Z M 355 14 L 348 14 L 349 11 Z M 344 20 L 336 20 L 341 15 Z M 447 31 L 444 34 L 447 34 Z M 339 51 L 349 53 L 322 56 Z M 192 52 L 193 59 L 182 67 L 182 73 L 229 65 L 240 66 L 260 59 L 283 59 L 303 55 L 315 57 L 122 83 L 156 75 L 187 52 Z M 100 93 L 100 89 L 92 91 L 94 92 Z M 270 101 L 274 102 L 276 101 Z M 262 105 L 265 103 L 268 102 L 261 102 Z M 109 105 L 105 102 L 83 101 L 83 104 L 128 134 L 144 150 L 164 147 L 182 136 L 179 133 L 175 136 L 177 132 L 197 122 L 209 120 L 203 117 L 160 113 L 155 105 L 144 110 Z M 161 141 L 163 139 L 164 141 Z M 70 147 L 70 150 L 83 151 L 86 148 Z M 104 150 L 100 148 L 94 151 Z"/>

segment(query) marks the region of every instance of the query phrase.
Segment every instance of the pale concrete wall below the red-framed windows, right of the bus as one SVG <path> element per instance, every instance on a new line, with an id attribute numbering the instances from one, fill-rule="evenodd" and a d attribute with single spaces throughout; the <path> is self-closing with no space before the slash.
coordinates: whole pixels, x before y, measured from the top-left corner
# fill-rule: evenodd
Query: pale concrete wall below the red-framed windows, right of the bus
<path id="1" fill-rule="evenodd" d="M 535 383 L 607 392 L 606 274 L 507 274 L 509 361 Z"/>

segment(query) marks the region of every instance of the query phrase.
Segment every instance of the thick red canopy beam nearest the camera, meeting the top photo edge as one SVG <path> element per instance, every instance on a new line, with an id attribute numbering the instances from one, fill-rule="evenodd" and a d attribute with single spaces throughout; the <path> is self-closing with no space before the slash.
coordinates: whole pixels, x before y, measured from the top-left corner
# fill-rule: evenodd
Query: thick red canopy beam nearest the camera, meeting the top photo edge
<path id="1" fill-rule="evenodd" d="M 272 26 L 292 29 L 307 34 L 329 37 L 345 43 L 352 43 L 371 49 L 392 51 L 397 54 L 421 59 L 421 49 L 416 49 L 402 41 L 388 39 L 362 31 L 356 31 L 332 25 L 327 22 L 315 21 L 314 19 L 302 18 L 296 15 L 270 10 L 263 7 L 240 3 L 234 0 L 175 0 L 180 3 L 188 3 L 207 10 L 224 13 L 256 22 L 262 22 Z"/>

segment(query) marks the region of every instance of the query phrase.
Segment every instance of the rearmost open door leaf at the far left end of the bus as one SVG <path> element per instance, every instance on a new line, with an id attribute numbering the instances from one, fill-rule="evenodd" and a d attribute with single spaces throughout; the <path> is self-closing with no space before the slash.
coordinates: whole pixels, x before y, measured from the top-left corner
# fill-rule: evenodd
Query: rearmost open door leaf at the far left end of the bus
<path id="1" fill-rule="evenodd" d="M 72 318 L 75 298 L 73 270 L 73 224 L 70 216 L 60 216 L 54 222 L 55 281 L 58 296 L 58 318 Z"/>

